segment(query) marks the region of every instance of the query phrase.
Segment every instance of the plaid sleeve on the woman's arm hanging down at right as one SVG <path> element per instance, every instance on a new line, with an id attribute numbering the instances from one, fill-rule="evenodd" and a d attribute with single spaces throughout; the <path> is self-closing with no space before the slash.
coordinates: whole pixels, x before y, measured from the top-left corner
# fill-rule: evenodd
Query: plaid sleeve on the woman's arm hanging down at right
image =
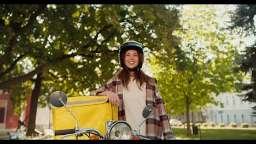
<path id="1" fill-rule="evenodd" d="M 164 100 L 162 99 L 158 87 L 155 85 L 155 99 L 156 99 L 156 107 L 159 112 L 162 132 L 164 133 L 165 140 L 175 140 L 176 138 L 172 135 L 171 125 L 169 123 L 169 119 L 167 116 Z"/>

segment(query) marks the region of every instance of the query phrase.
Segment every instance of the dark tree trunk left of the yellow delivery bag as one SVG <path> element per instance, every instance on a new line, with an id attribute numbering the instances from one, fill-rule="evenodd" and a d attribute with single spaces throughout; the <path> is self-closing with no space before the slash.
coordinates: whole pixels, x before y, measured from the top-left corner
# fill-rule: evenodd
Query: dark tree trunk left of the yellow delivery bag
<path id="1" fill-rule="evenodd" d="M 40 88 L 42 84 L 41 73 L 37 75 L 37 79 L 34 82 L 34 89 L 32 91 L 31 102 L 30 102 L 30 117 L 27 127 L 27 136 L 32 136 L 34 134 L 34 129 L 36 128 L 36 116 L 37 116 L 37 105 L 38 98 L 40 95 Z"/>

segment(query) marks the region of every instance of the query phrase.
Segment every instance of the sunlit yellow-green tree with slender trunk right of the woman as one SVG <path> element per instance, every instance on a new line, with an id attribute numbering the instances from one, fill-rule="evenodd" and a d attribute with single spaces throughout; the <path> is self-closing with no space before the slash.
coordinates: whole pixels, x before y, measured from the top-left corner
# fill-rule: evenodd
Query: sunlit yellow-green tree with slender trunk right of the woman
<path id="1" fill-rule="evenodd" d="M 183 29 L 174 32 L 181 38 L 181 45 L 172 53 L 156 53 L 152 67 L 166 107 L 173 110 L 169 115 L 186 113 L 187 135 L 191 135 L 190 111 L 208 104 L 223 106 L 212 94 L 238 91 L 236 85 L 242 76 L 232 73 L 238 50 L 231 40 L 236 37 L 219 25 L 218 9 L 214 5 L 185 7 L 181 17 Z"/>

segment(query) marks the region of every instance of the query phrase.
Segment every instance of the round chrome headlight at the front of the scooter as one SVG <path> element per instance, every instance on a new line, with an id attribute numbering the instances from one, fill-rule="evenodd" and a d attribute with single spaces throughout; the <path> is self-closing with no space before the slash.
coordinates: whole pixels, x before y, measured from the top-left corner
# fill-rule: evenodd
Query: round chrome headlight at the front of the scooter
<path id="1" fill-rule="evenodd" d="M 109 125 L 107 139 L 110 140 L 131 140 L 131 125 L 125 121 L 116 121 Z"/>

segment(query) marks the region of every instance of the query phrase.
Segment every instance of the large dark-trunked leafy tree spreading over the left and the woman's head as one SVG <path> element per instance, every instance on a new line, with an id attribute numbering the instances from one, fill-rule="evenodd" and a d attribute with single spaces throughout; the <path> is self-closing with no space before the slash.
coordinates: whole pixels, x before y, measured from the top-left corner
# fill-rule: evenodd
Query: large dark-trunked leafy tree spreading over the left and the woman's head
<path id="1" fill-rule="evenodd" d="M 119 69 L 119 46 L 137 40 L 173 49 L 177 10 L 166 5 L 1 5 L 0 89 L 12 91 L 19 115 L 31 92 L 30 123 L 51 92 L 85 95 Z M 22 91 L 24 90 L 24 91 Z M 39 101 L 38 101 L 39 100 Z"/>

